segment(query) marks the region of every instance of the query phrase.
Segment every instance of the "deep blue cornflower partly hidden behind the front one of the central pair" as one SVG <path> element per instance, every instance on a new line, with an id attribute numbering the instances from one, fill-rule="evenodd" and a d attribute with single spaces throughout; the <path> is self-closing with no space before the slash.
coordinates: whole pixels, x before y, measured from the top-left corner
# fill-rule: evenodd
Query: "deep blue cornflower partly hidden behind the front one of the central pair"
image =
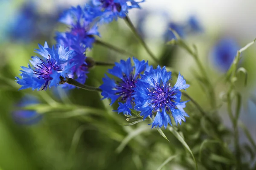
<path id="1" fill-rule="evenodd" d="M 114 80 L 105 75 L 103 78 L 103 84 L 99 87 L 102 89 L 103 99 L 111 99 L 111 105 L 118 99 L 119 108 L 118 113 L 131 114 L 130 108 L 134 106 L 134 98 L 132 93 L 133 88 L 140 74 L 145 71 L 148 66 L 148 62 L 139 61 L 133 57 L 134 66 L 131 65 L 131 58 L 126 61 L 121 60 L 120 63 L 115 63 L 112 69 L 108 70 L 108 73 L 116 76 L 118 80 Z"/>

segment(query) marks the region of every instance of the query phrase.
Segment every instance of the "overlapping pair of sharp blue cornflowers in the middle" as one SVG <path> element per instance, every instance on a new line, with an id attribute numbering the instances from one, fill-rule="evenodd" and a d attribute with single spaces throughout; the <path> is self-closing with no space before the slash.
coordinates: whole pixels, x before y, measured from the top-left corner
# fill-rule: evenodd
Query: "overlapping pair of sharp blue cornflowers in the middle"
<path id="1" fill-rule="evenodd" d="M 179 74 L 176 84 L 170 84 L 172 72 L 167 72 L 166 68 L 158 67 L 154 69 L 148 66 L 148 62 L 139 61 L 133 58 L 121 60 L 116 63 L 108 73 L 117 77 L 117 80 L 103 78 L 102 89 L 103 99 L 111 99 L 111 105 L 118 100 L 118 113 L 131 115 L 130 109 L 140 111 L 140 115 L 146 119 L 156 114 L 152 127 L 167 127 L 172 125 L 170 115 L 175 119 L 176 124 L 186 121 L 188 114 L 183 110 L 186 102 L 181 101 L 180 90 L 186 89 L 189 85 Z"/>

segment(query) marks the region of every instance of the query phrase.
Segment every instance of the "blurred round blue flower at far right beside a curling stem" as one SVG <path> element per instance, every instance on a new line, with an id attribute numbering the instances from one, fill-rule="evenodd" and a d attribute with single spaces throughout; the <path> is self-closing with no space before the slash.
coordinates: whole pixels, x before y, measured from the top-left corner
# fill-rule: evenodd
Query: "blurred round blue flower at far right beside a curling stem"
<path id="1" fill-rule="evenodd" d="M 226 72 L 230 68 L 238 50 L 239 45 L 236 40 L 225 37 L 214 45 L 210 52 L 210 57 L 220 71 Z"/>

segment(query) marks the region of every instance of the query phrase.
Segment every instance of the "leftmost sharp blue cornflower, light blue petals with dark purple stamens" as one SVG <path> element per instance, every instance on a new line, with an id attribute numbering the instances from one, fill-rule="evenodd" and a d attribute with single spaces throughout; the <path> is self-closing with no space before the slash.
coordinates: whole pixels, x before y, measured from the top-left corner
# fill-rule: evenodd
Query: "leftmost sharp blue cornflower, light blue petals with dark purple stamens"
<path id="1" fill-rule="evenodd" d="M 51 86 L 59 85 L 60 77 L 65 77 L 70 72 L 70 69 L 76 63 L 70 64 L 70 60 L 74 57 L 73 50 L 58 46 L 55 48 L 49 48 L 47 42 L 44 47 L 38 44 L 39 49 L 35 52 L 40 54 L 43 59 L 35 56 L 30 60 L 33 67 L 28 64 L 28 68 L 21 67 L 21 79 L 16 77 L 18 84 L 22 85 L 20 90 L 26 88 L 32 88 L 32 90 L 47 90 Z"/>

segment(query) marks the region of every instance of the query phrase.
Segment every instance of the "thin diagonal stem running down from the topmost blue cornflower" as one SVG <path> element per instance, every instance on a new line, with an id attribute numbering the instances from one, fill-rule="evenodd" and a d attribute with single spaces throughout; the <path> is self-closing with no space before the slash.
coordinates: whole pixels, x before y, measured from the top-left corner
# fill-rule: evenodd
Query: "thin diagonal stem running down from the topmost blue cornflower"
<path id="1" fill-rule="evenodd" d="M 137 32 L 136 28 L 134 27 L 134 25 L 132 24 L 130 18 L 128 16 L 126 16 L 124 18 L 126 24 L 131 28 L 131 31 L 134 33 L 135 37 L 137 37 L 137 39 L 140 41 L 140 43 L 143 45 L 143 47 L 145 48 L 145 50 L 148 52 L 148 54 L 150 55 L 150 57 L 155 61 L 155 62 L 159 62 L 157 57 L 154 56 L 154 54 L 150 51 L 150 49 L 148 48 L 148 46 L 146 45 L 145 41 L 143 40 L 143 38 L 140 36 L 140 34 Z"/>

